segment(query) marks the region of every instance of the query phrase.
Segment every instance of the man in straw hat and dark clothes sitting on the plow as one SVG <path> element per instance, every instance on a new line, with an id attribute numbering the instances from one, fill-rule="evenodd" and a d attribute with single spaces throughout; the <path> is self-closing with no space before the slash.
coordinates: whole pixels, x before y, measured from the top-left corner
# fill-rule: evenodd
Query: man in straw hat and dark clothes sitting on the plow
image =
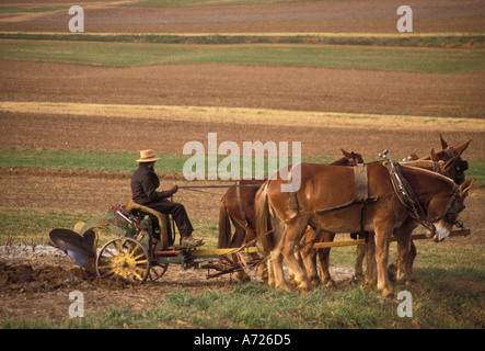
<path id="1" fill-rule="evenodd" d="M 159 159 L 159 157 L 154 156 L 152 149 L 140 151 L 140 159 L 137 160 L 139 163 L 138 169 L 131 177 L 132 200 L 139 205 L 150 207 L 160 213 L 173 215 L 178 233 L 181 234 L 182 246 L 200 246 L 203 245 L 201 240 L 192 237 L 194 228 L 192 227 L 184 205 L 166 199 L 175 194 L 178 191 L 178 186 L 174 185 L 170 190 L 157 191 L 157 188 L 160 186 L 160 180 L 153 168 L 155 161 Z"/>

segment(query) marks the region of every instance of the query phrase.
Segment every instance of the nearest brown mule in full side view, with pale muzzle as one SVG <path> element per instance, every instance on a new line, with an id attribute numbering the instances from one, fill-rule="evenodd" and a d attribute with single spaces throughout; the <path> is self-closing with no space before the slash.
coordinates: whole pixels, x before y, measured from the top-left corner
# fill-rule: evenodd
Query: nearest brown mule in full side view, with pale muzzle
<path id="1" fill-rule="evenodd" d="M 374 231 L 376 267 L 369 260 L 370 271 L 376 271 L 377 287 L 383 295 L 391 295 L 392 287 L 388 279 L 389 241 L 391 235 L 400 230 L 408 218 L 407 210 L 400 202 L 386 168 L 380 162 L 368 165 L 369 195 L 376 201 L 367 203 L 363 212 L 355 203 L 354 171 L 351 167 L 299 163 L 301 186 L 297 194 L 299 210 L 291 204 L 291 195 L 281 192 L 284 183 L 280 177 L 274 177 L 256 194 L 256 228 L 258 236 L 266 236 L 269 220 L 273 222 L 272 240 L 268 245 L 275 271 L 276 287 L 288 288 L 282 274 L 282 261 L 295 273 L 300 288 L 308 288 L 305 270 L 296 260 L 293 251 L 299 245 L 307 226 L 317 231 L 356 233 L 363 224 L 365 230 Z M 474 179 L 464 182 L 459 189 L 443 176 L 426 170 L 402 166 L 402 173 L 426 210 L 429 223 L 436 228 L 436 236 L 443 238 L 450 233 L 458 213 L 463 206 Z M 286 170 L 285 170 L 286 171 Z M 279 172 L 278 172 L 279 173 Z M 458 185 L 455 185 L 458 186 Z M 451 205 L 450 205 L 451 202 Z M 362 217 L 363 214 L 363 217 Z"/>

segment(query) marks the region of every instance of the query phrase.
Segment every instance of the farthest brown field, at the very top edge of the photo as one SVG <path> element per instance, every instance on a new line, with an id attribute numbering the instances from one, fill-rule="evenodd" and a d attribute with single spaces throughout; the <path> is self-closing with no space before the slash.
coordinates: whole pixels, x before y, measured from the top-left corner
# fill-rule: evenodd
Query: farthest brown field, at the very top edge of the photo
<path id="1" fill-rule="evenodd" d="M 44 3 L 43 3 L 44 2 Z M 46 0 L 36 5 L 66 5 Z M 399 0 L 309 1 L 197 8 L 116 7 L 135 1 L 78 1 L 86 32 L 230 33 L 230 32 L 363 32 L 395 33 Z M 2 1 L 4 5 L 30 4 Z M 415 32 L 484 32 L 481 1 L 406 1 Z M 0 31 L 67 32 L 67 10 L 5 13 Z"/>

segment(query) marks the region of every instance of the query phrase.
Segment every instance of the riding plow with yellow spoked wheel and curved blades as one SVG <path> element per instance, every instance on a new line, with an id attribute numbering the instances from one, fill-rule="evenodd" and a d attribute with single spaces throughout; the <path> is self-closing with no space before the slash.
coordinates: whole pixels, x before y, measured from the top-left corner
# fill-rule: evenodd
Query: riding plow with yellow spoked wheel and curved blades
<path id="1" fill-rule="evenodd" d="M 145 283 L 162 278 L 170 264 L 186 269 L 208 270 L 207 278 L 216 278 L 234 272 L 249 271 L 265 259 L 254 259 L 250 253 L 262 252 L 253 246 L 239 248 L 204 249 L 174 245 L 174 226 L 170 216 L 164 220 L 151 212 L 137 210 L 128 212 L 125 205 L 109 206 L 102 217 L 88 223 L 79 222 L 73 230 L 53 229 L 49 234 L 53 244 L 76 263 L 94 271 L 100 278 L 112 278 L 129 283 Z M 116 236 L 97 248 L 102 233 Z M 454 230 L 450 236 L 467 236 L 469 229 Z M 164 237 L 166 246 L 158 242 Z M 414 235 L 413 240 L 429 239 L 424 234 Z M 366 245 L 366 239 L 316 242 L 313 249 Z M 233 258 L 236 259 L 233 259 Z"/>

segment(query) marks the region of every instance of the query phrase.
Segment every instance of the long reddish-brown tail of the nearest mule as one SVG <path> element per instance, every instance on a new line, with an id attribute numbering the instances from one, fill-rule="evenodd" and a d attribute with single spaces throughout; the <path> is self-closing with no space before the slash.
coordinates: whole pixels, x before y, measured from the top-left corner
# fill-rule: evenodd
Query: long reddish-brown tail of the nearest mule
<path id="1" fill-rule="evenodd" d="M 268 205 L 268 183 L 264 183 L 257 191 L 254 200 L 254 212 L 256 214 L 256 235 L 259 238 L 259 242 L 263 246 L 265 252 L 269 252 L 273 249 L 272 236 L 268 235 L 272 231 L 272 215 L 269 213 Z"/>

